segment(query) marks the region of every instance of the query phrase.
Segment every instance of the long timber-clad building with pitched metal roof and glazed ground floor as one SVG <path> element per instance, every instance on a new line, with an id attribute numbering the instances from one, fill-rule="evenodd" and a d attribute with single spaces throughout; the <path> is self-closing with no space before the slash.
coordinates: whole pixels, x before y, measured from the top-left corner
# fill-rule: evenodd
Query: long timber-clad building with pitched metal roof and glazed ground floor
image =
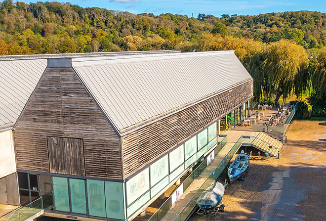
<path id="1" fill-rule="evenodd" d="M 19 199 L 51 195 L 47 212 L 65 216 L 133 219 L 214 149 L 221 120 L 235 126 L 253 97 L 234 51 L 61 55 L 41 65 L 10 132 Z"/>

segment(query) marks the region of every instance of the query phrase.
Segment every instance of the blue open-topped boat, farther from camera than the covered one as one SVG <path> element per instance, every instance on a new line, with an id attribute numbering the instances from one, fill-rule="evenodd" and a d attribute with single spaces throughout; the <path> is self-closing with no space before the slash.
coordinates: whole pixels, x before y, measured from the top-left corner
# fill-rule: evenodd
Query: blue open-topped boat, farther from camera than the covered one
<path id="1" fill-rule="evenodd" d="M 249 155 L 244 153 L 242 150 L 241 154 L 236 157 L 228 169 L 228 176 L 231 183 L 236 181 L 238 178 L 242 178 L 242 180 L 244 180 L 244 173 L 249 166 L 249 162 Z"/>

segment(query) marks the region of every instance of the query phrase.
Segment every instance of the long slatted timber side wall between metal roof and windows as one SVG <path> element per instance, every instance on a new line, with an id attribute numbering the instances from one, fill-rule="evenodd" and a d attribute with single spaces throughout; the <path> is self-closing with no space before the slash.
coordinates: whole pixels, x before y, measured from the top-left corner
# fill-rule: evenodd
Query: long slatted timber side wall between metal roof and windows
<path id="1" fill-rule="evenodd" d="M 253 81 L 122 136 L 124 178 L 253 97 Z"/>

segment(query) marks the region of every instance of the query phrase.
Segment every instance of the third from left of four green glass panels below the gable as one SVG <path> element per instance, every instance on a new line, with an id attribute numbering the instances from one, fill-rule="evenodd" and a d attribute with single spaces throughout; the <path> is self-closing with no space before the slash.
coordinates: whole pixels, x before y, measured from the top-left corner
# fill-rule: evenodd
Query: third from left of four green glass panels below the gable
<path id="1" fill-rule="evenodd" d="M 106 217 L 104 181 L 87 179 L 88 212 L 90 216 Z"/>

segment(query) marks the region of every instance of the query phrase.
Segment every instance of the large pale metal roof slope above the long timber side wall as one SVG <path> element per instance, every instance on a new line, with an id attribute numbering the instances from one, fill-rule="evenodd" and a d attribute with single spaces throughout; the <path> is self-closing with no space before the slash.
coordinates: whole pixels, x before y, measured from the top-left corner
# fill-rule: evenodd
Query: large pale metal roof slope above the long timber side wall
<path id="1" fill-rule="evenodd" d="M 252 79 L 234 51 L 75 58 L 72 65 L 120 133 Z"/>

